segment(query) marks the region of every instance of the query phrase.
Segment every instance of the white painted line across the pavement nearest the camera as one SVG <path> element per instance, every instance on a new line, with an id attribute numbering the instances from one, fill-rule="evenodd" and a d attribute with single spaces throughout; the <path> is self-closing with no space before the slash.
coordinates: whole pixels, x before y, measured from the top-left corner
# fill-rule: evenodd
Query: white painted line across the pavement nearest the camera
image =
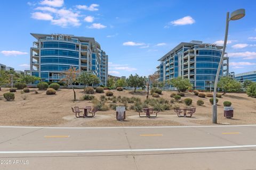
<path id="1" fill-rule="evenodd" d="M 92 152 L 147 152 L 147 151 L 179 151 L 203 149 L 252 148 L 256 145 L 194 147 L 194 148 L 163 148 L 163 149 L 114 149 L 114 150 L 46 150 L 46 151 L 0 151 L 0 154 L 61 154 L 61 153 L 92 153 Z"/>

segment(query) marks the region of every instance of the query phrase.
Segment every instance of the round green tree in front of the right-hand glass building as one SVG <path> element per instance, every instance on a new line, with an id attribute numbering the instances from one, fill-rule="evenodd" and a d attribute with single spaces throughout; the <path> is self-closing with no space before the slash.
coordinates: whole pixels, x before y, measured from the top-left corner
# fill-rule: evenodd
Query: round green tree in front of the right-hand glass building
<path id="1" fill-rule="evenodd" d="M 186 91 L 189 87 L 192 87 L 189 79 L 182 79 L 182 77 L 171 79 L 170 84 L 173 87 L 177 88 L 179 92 Z"/>

